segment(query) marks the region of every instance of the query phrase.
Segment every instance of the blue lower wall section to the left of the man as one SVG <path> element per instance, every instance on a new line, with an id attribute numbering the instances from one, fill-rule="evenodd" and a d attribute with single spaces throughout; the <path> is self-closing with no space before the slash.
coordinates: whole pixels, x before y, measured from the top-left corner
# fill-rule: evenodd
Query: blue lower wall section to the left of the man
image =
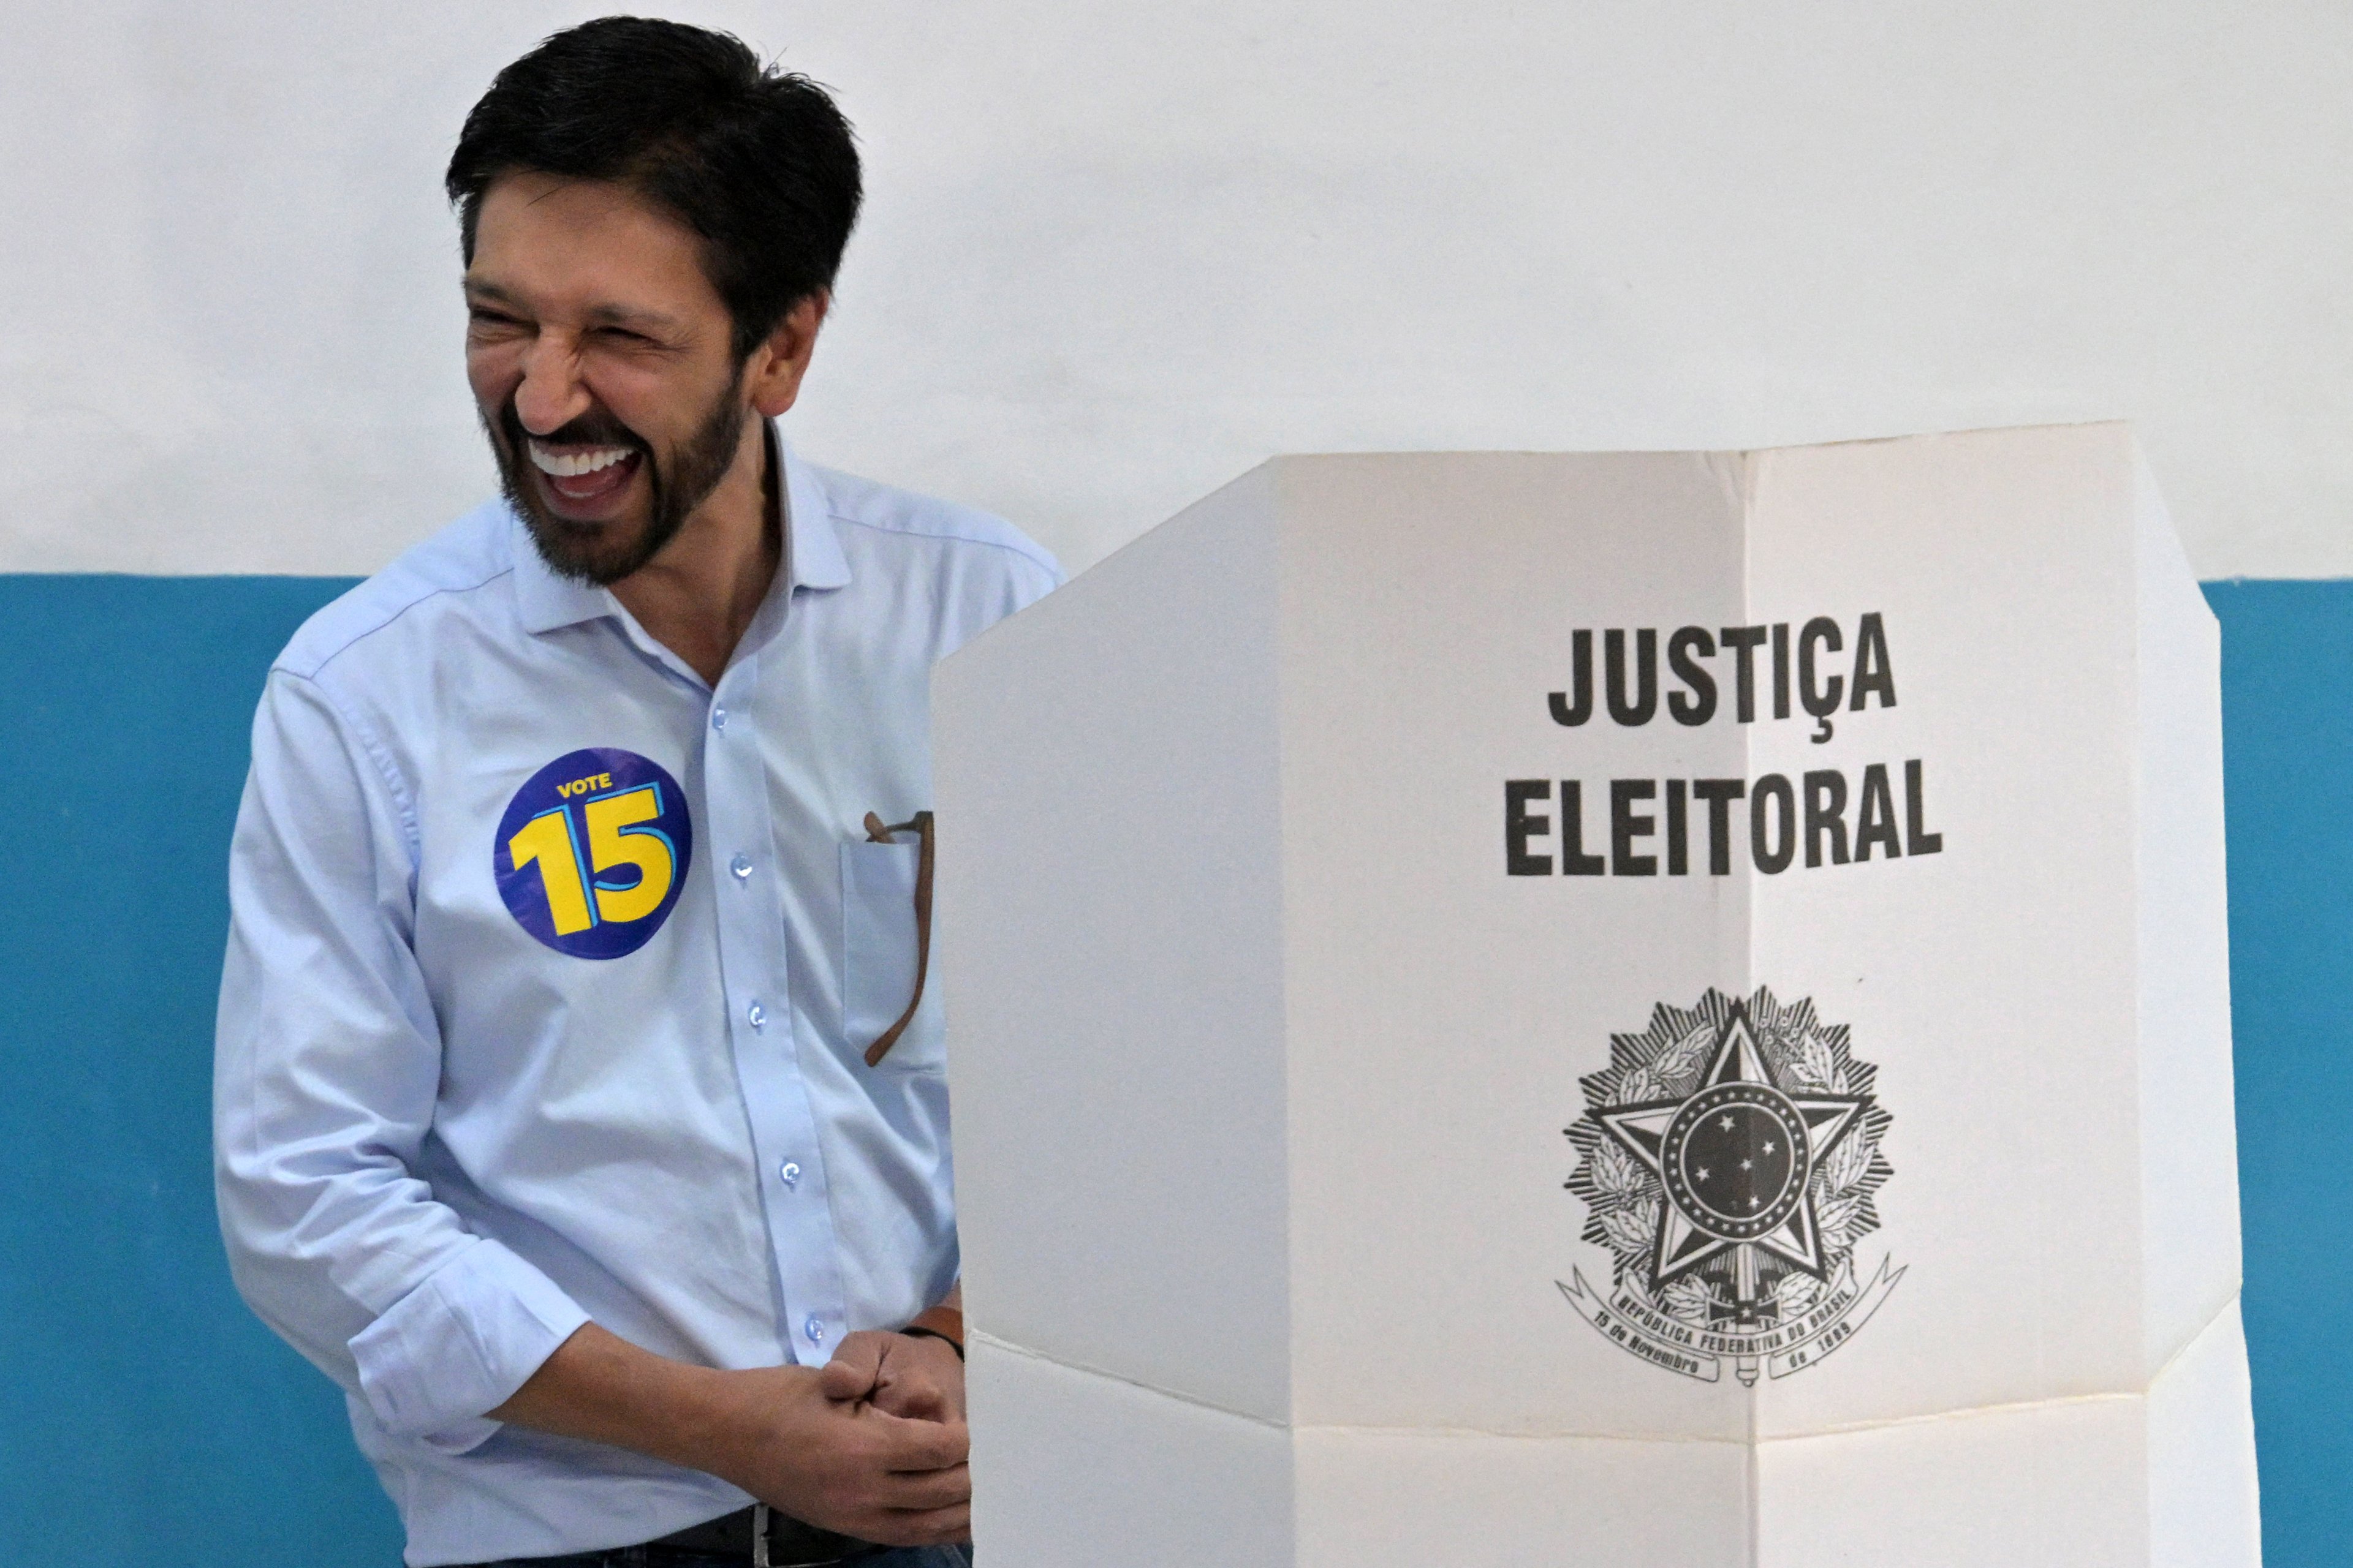
<path id="1" fill-rule="evenodd" d="M 344 1399 L 212 1213 L 224 849 L 329 578 L 0 576 L 0 1563 L 391 1568 Z"/>

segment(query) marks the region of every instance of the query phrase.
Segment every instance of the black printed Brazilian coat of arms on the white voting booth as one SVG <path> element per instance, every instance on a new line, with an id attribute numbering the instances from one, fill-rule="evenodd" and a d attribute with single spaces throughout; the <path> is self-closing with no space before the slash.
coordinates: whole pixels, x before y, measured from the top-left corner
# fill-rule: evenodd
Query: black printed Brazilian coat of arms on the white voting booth
<path id="1" fill-rule="evenodd" d="M 1854 1267 L 1894 1173 L 1875 1081 L 1845 1025 L 1762 987 L 1661 1004 L 1640 1034 L 1612 1034 L 1567 1128 L 1567 1190 L 1609 1281 L 1574 1269 L 1562 1295 L 1628 1354 L 1704 1382 L 1727 1361 L 1753 1385 L 1828 1356 L 1904 1276 L 1887 1258 L 1868 1284 Z"/>

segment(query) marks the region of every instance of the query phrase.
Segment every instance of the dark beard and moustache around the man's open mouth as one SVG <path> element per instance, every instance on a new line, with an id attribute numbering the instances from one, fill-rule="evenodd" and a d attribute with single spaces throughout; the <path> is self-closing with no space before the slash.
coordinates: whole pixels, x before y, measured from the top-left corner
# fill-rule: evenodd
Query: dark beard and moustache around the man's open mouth
<path id="1" fill-rule="evenodd" d="M 551 512 L 539 498 L 539 482 L 532 477 L 536 470 L 529 470 L 529 435 L 522 428 L 522 416 L 515 414 L 515 400 L 508 397 L 499 407 L 496 423 L 485 414 L 482 433 L 499 458 L 499 489 L 506 491 L 508 505 L 515 508 L 515 515 L 532 531 L 532 543 L 539 548 L 539 559 L 548 564 L 548 571 L 574 583 L 612 588 L 661 555 L 661 548 L 678 538 L 694 508 L 718 489 L 720 480 L 727 477 L 727 468 L 734 465 L 736 451 L 744 444 L 744 421 L 751 418 L 751 409 L 736 402 L 741 390 L 744 374 L 739 369 L 734 381 L 720 390 L 701 421 L 696 421 L 692 435 L 666 454 L 654 451 L 647 440 L 605 409 L 588 409 L 579 418 L 567 421 L 562 430 L 539 437 L 553 447 L 626 447 L 642 454 L 652 498 L 645 510 L 645 524 L 635 531 L 628 531 L 626 520 L 572 522 Z"/>

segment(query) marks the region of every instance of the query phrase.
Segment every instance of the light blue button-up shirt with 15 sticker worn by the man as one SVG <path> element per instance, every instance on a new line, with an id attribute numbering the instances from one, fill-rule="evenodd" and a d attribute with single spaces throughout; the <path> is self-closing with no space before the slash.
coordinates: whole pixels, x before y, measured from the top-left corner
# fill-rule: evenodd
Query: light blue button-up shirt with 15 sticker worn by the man
<path id="1" fill-rule="evenodd" d="M 786 564 L 715 689 L 494 503 L 313 616 L 254 719 L 221 1229 L 344 1385 L 409 1563 L 746 1502 L 485 1415 L 581 1324 L 821 1363 L 958 1279 L 936 997 L 864 1060 L 913 987 L 918 851 L 861 820 L 932 804 L 932 665 L 1059 571 L 772 451 Z"/>

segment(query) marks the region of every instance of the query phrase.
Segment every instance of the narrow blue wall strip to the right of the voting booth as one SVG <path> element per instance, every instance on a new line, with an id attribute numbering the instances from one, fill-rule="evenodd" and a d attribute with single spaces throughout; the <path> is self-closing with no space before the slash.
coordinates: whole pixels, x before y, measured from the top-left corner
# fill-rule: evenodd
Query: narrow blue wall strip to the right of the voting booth
<path id="1" fill-rule="evenodd" d="M 2207 583 L 2221 616 L 2231 1032 L 2264 1561 L 2353 1561 L 2353 583 Z"/>

